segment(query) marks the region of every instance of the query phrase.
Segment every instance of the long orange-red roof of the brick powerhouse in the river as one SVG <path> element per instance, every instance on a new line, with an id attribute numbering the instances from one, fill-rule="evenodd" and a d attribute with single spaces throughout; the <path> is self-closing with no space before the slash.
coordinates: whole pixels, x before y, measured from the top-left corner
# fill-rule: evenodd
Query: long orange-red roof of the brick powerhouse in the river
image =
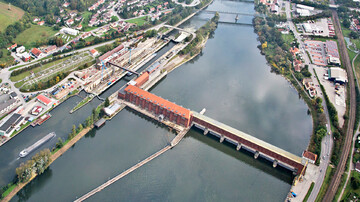
<path id="1" fill-rule="evenodd" d="M 190 119 L 190 110 L 185 109 L 184 107 L 181 107 L 173 102 L 165 100 L 164 98 L 158 97 L 133 85 L 129 85 L 128 87 L 126 87 L 125 91 L 142 97 L 149 102 L 166 108 L 167 110 L 172 111 L 173 113 L 178 114 L 184 118 Z"/>

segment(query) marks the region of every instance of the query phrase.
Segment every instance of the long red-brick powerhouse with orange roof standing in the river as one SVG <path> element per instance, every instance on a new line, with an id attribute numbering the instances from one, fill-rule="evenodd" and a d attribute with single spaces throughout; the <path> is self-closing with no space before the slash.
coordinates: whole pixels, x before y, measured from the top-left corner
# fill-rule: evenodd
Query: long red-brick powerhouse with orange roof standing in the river
<path id="1" fill-rule="evenodd" d="M 119 91 L 119 98 L 135 104 L 165 120 L 169 120 L 185 127 L 190 126 L 191 111 L 173 102 L 144 91 L 136 86 L 129 85 Z"/>

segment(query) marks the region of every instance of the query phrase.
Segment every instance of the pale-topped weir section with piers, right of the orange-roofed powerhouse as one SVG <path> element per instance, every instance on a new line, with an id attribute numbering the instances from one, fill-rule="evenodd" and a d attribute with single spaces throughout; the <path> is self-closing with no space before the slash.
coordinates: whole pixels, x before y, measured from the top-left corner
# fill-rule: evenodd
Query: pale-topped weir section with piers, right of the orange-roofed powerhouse
<path id="1" fill-rule="evenodd" d="M 205 115 L 192 111 L 192 125 L 202 129 L 204 135 L 212 134 L 219 137 L 220 142 L 227 141 L 234 144 L 236 150 L 244 149 L 253 153 L 255 159 L 260 156 L 273 162 L 273 167 L 280 165 L 293 171 L 296 175 L 304 174 L 305 172 L 306 162 L 301 157 Z"/>

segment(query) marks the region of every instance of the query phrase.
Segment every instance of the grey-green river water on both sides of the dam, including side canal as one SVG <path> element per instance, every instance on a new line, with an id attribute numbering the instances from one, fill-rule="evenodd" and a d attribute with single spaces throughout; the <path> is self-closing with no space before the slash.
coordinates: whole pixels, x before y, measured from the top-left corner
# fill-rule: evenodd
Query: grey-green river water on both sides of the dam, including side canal
<path id="1" fill-rule="evenodd" d="M 253 13 L 253 9 L 249 3 L 217 0 L 208 8 L 243 13 Z M 184 26 L 198 28 L 211 17 L 201 13 Z M 222 15 L 220 20 L 233 18 Z M 251 23 L 251 17 L 240 16 L 239 21 Z M 312 130 L 306 104 L 285 79 L 270 73 L 257 45 L 251 26 L 220 23 L 202 54 L 171 72 L 151 92 L 192 110 L 206 108 L 207 116 L 300 155 Z M 110 95 L 125 82 L 120 81 L 102 96 Z M 51 130 L 66 137 L 71 125 L 85 120 L 99 104 L 94 100 L 69 115 L 79 100 L 74 97 L 66 101 L 43 126 L 26 129 L 0 148 L 0 158 L 9 156 L 8 164 L 14 164 L 0 167 L 2 182 L 11 180 L 14 168 L 8 167 L 19 163 L 11 159 L 32 138 Z M 166 127 L 123 110 L 101 129 L 82 138 L 13 201 L 74 200 L 160 150 L 173 137 Z M 23 143 L 17 143 L 17 138 Z M 12 152 L 3 154 L 8 150 Z M 5 176 L 4 172 L 12 175 Z M 290 172 L 274 169 L 232 145 L 190 130 L 178 146 L 89 201 L 283 201 L 291 182 Z"/>

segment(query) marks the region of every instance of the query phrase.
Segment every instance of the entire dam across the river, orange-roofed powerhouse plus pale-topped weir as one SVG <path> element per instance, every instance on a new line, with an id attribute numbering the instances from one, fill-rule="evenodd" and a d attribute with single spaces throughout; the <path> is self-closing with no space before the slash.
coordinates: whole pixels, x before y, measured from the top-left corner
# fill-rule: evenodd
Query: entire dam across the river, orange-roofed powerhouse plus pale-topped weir
<path id="1" fill-rule="evenodd" d="M 254 158 L 260 156 L 273 162 L 273 167 L 280 165 L 296 175 L 303 175 L 306 170 L 306 161 L 297 155 L 136 86 L 128 85 L 121 89 L 118 92 L 118 98 L 127 102 L 129 106 L 138 108 L 140 113 L 151 114 L 161 122 L 172 122 L 185 128 L 189 126 L 200 128 L 204 130 L 204 135 L 213 134 L 220 138 L 220 142 L 226 140 L 235 144 L 237 150 L 243 148 L 254 153 Z"/>

